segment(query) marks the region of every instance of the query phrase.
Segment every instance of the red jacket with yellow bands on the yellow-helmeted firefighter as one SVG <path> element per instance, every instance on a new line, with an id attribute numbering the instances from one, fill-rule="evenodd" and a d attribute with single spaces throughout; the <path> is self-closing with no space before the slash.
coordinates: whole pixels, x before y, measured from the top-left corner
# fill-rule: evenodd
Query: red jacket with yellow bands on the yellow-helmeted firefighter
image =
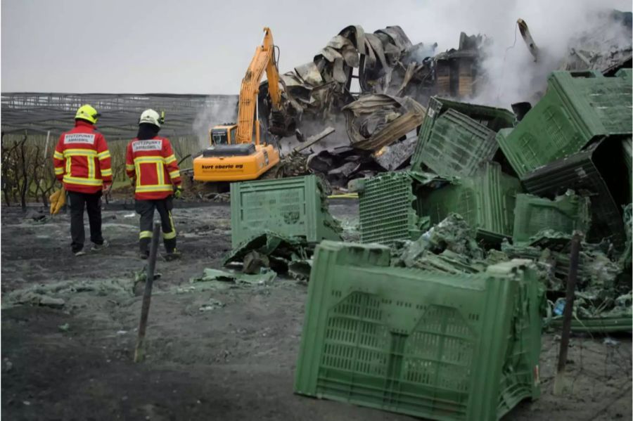
<path id="1" fill-rule="evenodd" d="M 103 183 L 112 183 L 106 138 L 83 120 L 77 120 L 74 129 L 59 136 L 53 167 L 65 190 L 97 193 L 103 188 Z"/>

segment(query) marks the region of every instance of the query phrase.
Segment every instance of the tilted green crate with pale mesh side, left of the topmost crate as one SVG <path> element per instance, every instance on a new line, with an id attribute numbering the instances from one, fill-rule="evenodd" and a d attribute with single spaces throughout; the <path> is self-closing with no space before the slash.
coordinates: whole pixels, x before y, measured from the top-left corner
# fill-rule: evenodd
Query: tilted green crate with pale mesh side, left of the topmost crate
<path id="1" fill-rule="evenodd" d="M 513 122 L 508 110 L 432 97 L 411 169 L 421 171 L 426 165 L 443 176 L 471 176 L 497 152 L 494 132 Z"/>

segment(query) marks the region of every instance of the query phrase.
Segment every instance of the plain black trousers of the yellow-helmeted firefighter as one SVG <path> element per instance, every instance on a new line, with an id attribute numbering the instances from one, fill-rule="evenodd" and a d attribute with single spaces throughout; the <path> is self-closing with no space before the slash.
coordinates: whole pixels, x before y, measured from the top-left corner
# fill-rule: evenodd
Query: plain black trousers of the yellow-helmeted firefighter
<path id="1" fill-rule="evenodd" d="M 88 211 L 90 224 L 90 240 L 95 244 L 103 244 L 101 235 L 101 191 L 97 193 L 68 192 L 70 202 L 70 237 L 72 238 L 72 252 L 84 248 L 86 234 L 84 232 L 84 207 Z"/>

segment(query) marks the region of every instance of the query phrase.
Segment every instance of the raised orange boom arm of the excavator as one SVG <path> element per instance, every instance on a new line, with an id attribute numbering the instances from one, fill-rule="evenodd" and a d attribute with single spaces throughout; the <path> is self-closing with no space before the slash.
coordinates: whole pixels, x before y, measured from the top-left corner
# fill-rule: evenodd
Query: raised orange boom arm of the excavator
<path id="1" fill-rule="evenodd" d="M 260 79 L 262 79 L 264 70 L 266 70 L 268 77 L 268 91 L 273 108 L 279 109 L 281 104 L 279 71 L 277 70 L 277 65 L 274 60 L 272 33 L 268 27 L 264 27 L 264 41 L 261 46 L 255 48 L 255 55 L 252 57 L 244 79 L 242 79 L 236 143 L 252 142 L 255 110 L 257 108 L 257 93 L 259 93 Z"/>

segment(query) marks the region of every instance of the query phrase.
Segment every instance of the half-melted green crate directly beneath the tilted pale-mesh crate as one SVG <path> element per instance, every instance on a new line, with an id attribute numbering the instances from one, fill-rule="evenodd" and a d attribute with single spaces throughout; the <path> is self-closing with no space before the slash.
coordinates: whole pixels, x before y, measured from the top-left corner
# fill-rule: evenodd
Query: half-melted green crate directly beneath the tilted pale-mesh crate
<path id="1" fill-rule="evenodd" d="M 450 212 L 463 216 L 475 228 L 477 237 L 500 242 L 512 235 L 518 179 L 501 172 L 496 162 L 488 162 L 468 179 L 431 191 L 418 200 L 418 213 L 430 217 L 431 224 Z"/>

